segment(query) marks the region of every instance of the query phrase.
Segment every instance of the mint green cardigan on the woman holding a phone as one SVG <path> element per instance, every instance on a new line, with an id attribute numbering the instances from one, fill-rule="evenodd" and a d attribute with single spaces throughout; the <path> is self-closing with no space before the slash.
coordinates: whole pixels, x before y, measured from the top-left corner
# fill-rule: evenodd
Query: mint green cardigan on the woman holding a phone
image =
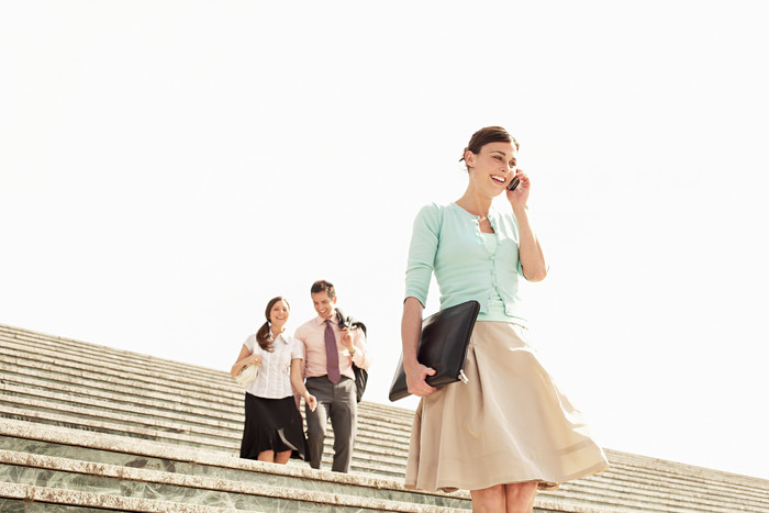
<path id="1" fill-rule="evenodd" d="M 441 289 L 441 310 L 475 299 L 479 321 L 526 325 L 521 309 L 519 228 L 511 213 L 489 212 L 497 252 L 487 248 L 479 218 L 456 203 L 423 207 L 416 214 L 405 271 L 405 297 L 427 301 L 430 279 Z M 501 299 L 501 302 L 499 301 Z"/>

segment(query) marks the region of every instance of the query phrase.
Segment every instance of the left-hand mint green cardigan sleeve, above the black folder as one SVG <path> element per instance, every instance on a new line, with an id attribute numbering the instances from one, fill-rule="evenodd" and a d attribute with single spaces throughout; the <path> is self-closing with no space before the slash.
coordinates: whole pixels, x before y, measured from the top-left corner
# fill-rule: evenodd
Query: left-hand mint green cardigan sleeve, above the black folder
<path id="1" fill-rule="evenodd" d="M 405 270 L 405 297 L 427 302 L 430 279 L 435 266 L 435 253 L 441 235 L 441 211 L 433 203 L 423 207 L 414 219 Z"/>

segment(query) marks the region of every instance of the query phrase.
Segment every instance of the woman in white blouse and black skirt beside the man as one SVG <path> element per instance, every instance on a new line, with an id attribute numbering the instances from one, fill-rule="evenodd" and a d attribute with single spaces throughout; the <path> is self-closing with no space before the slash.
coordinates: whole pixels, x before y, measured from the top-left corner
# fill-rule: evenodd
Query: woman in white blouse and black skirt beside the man
<path id="1" fill-rule="evenodd" d="M 267 303 L 267 322 L 243 343 L 230 375 L 235 378 L 248 366 L 256 366 L 256 378 L 245 384 L 246 421 L 241 458 L 286 464 L 289 458 L 305 459 L 307 438 L 293 391 L 312 410 L 316 400 L 302 380 L 304 346 L 286 330 L 290 306 L 281 297 Z M 293 386 L 293 389 L 292 389 Z"/>

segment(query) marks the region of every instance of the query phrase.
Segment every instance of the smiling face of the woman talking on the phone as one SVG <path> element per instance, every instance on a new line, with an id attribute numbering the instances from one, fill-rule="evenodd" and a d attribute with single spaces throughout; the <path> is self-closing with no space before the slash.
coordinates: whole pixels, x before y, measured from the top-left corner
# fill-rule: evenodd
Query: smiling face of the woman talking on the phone
<path id="1" fill-rule="evenodd" d="M 517 149 L 512 143 L 489 143 L 477 154 L 468 149 L 465 161 L 475 188 L 495 197 L 515 177 Z"/>

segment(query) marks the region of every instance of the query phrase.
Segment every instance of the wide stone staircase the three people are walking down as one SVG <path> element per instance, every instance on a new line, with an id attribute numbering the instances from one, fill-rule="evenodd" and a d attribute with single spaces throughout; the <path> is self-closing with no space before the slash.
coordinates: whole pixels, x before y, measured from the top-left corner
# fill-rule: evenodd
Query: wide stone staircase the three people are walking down
<path id="1" fill-rule="evenodd" d="M 469 510 L 467 492 L 402 487 L 412 416 L 361 402 L 349 475 L 243 460 L 226 372 L 0 324 L 0 511 Z M 608 455 L 535 511 L 769 512 L 767 480 Z"/>

